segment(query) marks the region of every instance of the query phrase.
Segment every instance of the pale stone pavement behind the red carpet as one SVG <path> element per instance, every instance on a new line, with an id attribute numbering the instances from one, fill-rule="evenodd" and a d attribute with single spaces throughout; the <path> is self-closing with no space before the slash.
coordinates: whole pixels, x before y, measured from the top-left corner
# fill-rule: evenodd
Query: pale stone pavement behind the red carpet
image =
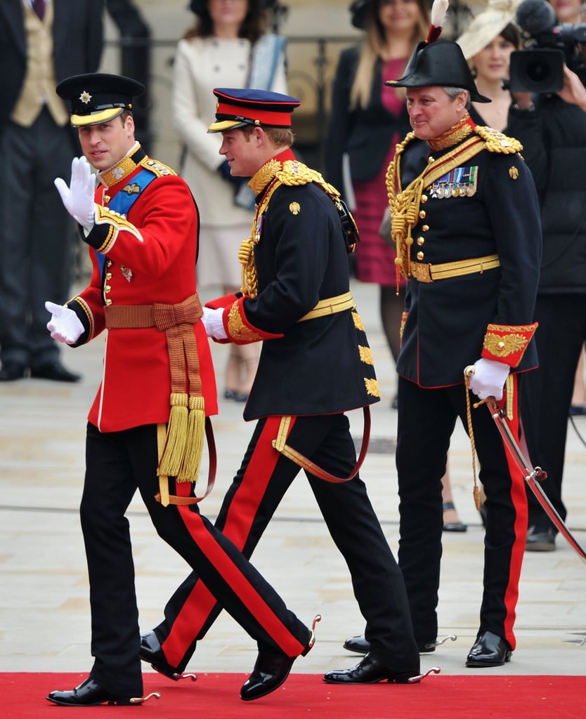
<path id="1" fill-rule="evenodd" d="M 378 290 L 353 283 L 366 324 L 382 390 L 373 408 L 372 451 L 362 477 L 392 549 L 397 549 L 395 458 L 397 413 L 389 408 L 395 372 L 378 317 Z M 205 300 L 214 295 L 210 290 Z M 63 362 L 84 375 L 66 385 L 19 380 L 0 385 L 0 671 L 85 672 L 91 667 L 88 583 L 78 504 L 84 476 L 86 414 L 102 366 L 103 340 L 64 348 Z M 214 344 L 219 389 L 227 347 Z M 286 381 L 284 379 L 284 381 Z M 145 388 L 148 391 L 148 388 Z M 221 391 L 220 391 L 221 395 Z M 120 398 L 124 401 L 124 397 Z M 215 489 L 200 507 L 214 517 L 240 464 L 253 425 L 243 407 L 220 398 L 214 420 L 219 454 Z M 361 413 L 351 416 L 361 436 Z M 586 436 L 586 418 L 576 419 Z M 549 553 L 526 553 L 520 582 L 518 646 L 506 667 L 466 669 L 477 631 L 482 592 L 483 530 L 472 500 L 472 456 L 463 429 L 456 429 L 449 467 L 454 500 L 468 531 L 443 535 L 441 635 L 454 634 L 423 669 L 444 674 L 586 674 L 586 564 L 558 537 Z M 586 545 L 586 448 L 569 427 L 564 499 L 569 526 Z M 206 467 L 202 468 L 205 477 Z M 168 595 L 184 579 L 184 560 L 156 536 L 140 498 L 128 512 L 135 555 L 136 586 L 143 631 L 162 618 Z M 348 520 L 350 521 L 350 520 Z M 309 623 L 316 613 L 317 642 L 294 672 L 350 667 L 356 655 L 342 649 L 346 636 L 362 633 L 364 620 L 353 598 L 348 570 L 333 546 L 315 501 L 300 474 L 253 555 L 253 562 Z M 256 645 L 226 613 L 200 642 L 189 669 L 248 672 Z M 145 671 L 150 671 L 146 669 Z"/>

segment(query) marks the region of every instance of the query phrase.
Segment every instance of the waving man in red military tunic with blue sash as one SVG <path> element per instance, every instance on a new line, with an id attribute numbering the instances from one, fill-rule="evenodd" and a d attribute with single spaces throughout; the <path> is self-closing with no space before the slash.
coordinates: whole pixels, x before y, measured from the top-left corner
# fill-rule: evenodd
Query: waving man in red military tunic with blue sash
<path id="1" fill-rule="evenodd" d="M 312 631 L 197 509 L 204 428 L 217 412 L 195 284 L 199 216 L 184 180 L 135 141 L 132 98 L 143 89 L 105 74 L 76 75 L 57 87 L 71 101 L 85 157 L 73 160 L 71 186 L 60 178 L 55 185 L 89 245 L 92 274 L 66 306 L 47 303 L 48 329 L 76 347 L 108 330 L 81 499 L 95 661 L 78 687 L 50 692 L 60 705 L 143 701 L 125 518 L 137 488 L 160 536 L 258 642 L 243 699 L 276 689 L 313 643 Z M 95 192 L 89 163 L 98 170 Z"/>

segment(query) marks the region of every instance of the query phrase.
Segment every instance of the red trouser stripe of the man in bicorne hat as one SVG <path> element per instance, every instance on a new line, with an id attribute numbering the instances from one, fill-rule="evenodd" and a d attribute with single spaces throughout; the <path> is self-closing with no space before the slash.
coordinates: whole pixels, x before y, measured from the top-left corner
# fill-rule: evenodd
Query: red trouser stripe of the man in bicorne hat
<path id="1" fill-rule="evenodd" d="M 519 437 L 519 406 L 518 406 L 518 383 L 516 375 L 513 375 L 513 419 L 507 420 L 510 431 L 518 441 Z M 505 402 L 505 400 L 503 400 Z M 510 495 L 515 507 L 515 542 L 511 548 L 510 569 L 507 589 L 505 590 L 505 639 L 511 649 L 515 649 L 516 640 L 513 626 L 515 624 L 515 607 L 519 598 L 519 578 L 521 565 L 525 555 L 525 543 L 527 538 L 527 495 L 525 491 L 525 477 L 520 471 L 510 450 L 505 444 L 505 455 L 511 477 Z"/>

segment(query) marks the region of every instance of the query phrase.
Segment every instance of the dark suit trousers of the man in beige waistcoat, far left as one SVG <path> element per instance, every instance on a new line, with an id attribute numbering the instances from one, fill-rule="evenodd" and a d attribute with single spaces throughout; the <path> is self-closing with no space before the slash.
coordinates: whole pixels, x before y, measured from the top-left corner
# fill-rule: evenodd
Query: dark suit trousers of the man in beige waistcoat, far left
<path id="1" fill-rule="evenodd" d="M 69 127 L 42 110 L 31 127 L 8 122 L 0 134 L 0 359 L 41 367 L 59 357 L 45 301 L 68 299 L 75 223 L 53 185 L 69 184 Z"/>

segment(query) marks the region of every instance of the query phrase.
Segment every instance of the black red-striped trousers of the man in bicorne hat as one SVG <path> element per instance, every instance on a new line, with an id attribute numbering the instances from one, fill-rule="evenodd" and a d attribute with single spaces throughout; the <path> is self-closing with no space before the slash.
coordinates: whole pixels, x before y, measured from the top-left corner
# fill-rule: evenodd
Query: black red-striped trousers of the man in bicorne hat
<path id="1" fill-rule="evenodd" d="M 513 375 L 515 385 L 518 375 Z M 518 391 L 509 422 L 519 436 Z M 470 394 L 471 403 L 478 401 Z M 415 636 L 436 640 L 443 510 L 441 478 L 446 472 L 450 438 L 460 418 L 467 431 L 464 385 L 423 389 L 399 378 L 397 472 L 400 496 L 399 566 Z M 479 459 L 479 479 L 486 494 L 484 577 L 479 632 L 492 631 L 515 649 L 515 605 L 518 599 L 525 540 L 527 500 L 523 474 L 508 457 L 490 411 L 472 408 L 472 429 Z M 472 454 L 470 459 L 472 501 Z M 472 580 L 472 577 L 470 578 Z"/>

